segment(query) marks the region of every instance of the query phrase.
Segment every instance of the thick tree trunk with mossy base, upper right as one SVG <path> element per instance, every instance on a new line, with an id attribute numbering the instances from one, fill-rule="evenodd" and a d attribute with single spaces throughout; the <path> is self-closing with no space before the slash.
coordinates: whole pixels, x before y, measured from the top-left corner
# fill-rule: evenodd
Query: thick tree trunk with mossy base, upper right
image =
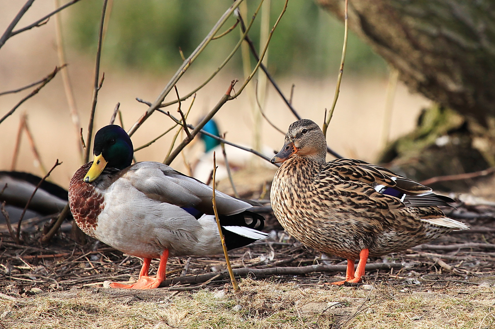
<path id="1" fill-rule="evenodd" d="M 344 19 L 344 0 L 317 1 Z M 408 149 L 421 161 L 432 162 L 426 157 L 435 157 L 435 152 L 423 151 L 441 147 L 438 138 L 455 134 L 462 135 L 462 142 L 449 147 L 457 149 L 459 164 L 414 176 L 495 165 L 495 1 L 349 0 L 348 11 L 349 27 L 399 71 L 399 79 L 411 91 L 440 104 L 423 113 L 422 119 L 435 118 L 433 126 L 420 122 L 415 132 L 390 145 L 382 160 L 402 163 L 405 169 L 411 159 Z M 469 148 L 481 159 L 478 155 L 463 159 L 466 154 L 460 150 Z"/>

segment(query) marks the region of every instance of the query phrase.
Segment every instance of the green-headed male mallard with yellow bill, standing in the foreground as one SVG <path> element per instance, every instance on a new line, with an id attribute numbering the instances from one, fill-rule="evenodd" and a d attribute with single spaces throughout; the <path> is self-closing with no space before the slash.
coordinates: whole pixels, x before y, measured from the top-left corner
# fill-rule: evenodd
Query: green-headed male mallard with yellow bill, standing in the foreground
<path id="1" fill-rule="evenodd" d="M 211 202 L 212 188 L 159 162 L 131 165 L 132 142 L 116 125 L 95 136 L 95 159 L 79 168 L 69 185 L 70 210 L 84 233 L 143 257 L 138 282 L 111 287 L 156 288 L 165 279 L 168 256 L 206 256 L 222 252 Z M 228 249 L 265 238 L 262 216 L 251 204 L 215 192 Z M 250 224 L 247 224 L 250 223 Z M 160 258 L 156 277 L 151 258 Z"/>

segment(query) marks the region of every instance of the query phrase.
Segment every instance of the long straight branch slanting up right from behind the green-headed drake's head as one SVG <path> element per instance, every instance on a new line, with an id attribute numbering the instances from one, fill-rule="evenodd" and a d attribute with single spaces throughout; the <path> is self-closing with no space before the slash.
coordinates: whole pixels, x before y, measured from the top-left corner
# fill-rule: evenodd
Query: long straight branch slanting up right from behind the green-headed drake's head
<path id="1" fill-rule="evenodd" d="M 194 62 L 194 60 L 198 57 L 198 55 L 204 50 L 204 48 L 209 44 L 211 41 L 211 38 L 218 32 L 218 30 L 222 27 L 222 25 L 227 21 L 227 19 L 230 17 L 230 15 L 234 12 L 234 10 L 239 6 L 243 0 L 236 0 L 230 7 L 225 11 L 225 13 L 220 17 L 220 19 L 217 21 L 217 23 L 213 26 L 213 28 L 210 30 L 210 32 L 206 35 L 206 37 L 201 41 L 201 43 L 196 47 L 196 49 L 191 53 L 191 55 L 186 58 L 186 60 L 182 63 L 182 65 L 179 67 L 177 72 L 174 74 L 172 79 L 168 82 L 168 84 L 165 86 L 165 88 L 161 91 L 161 93 L 158 95 L 158 97 L 155 99 L 155 101 L 149 106 L 149 108 L 146 110 L 146 112 L 139 118 L 136 123 L 131 127 L 131 129 L 128 131 L 129 136 L 132 136 L 136 130 L 145 122 L 146 119 L 151 115 L 151 113 L 156 110 L 163 99 L 165 99 L 165 96 L 172 90 L 173 86 L 179 81 L 179 79 L 182 77 L 184 72 L 191 66 L 191 64 Z"/>

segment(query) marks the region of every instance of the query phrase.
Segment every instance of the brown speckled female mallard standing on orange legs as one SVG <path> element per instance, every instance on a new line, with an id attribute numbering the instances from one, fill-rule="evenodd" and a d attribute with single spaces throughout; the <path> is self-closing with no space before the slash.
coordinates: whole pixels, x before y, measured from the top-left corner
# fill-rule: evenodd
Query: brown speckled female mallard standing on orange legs
<path id="1" fill-rule="evenodd" d="M 333 283 L 361 282 L 368 255 L 402 251 L 469 229 L 437 207 L 452 199 L 364 161 L 325 162 L 326 145 L 313 121 L 291 124 L 284 147 L 271 160 L 283 163 L 270 198 L 289 234 L 321 252 L 347 258 L 346 280 Z"/>

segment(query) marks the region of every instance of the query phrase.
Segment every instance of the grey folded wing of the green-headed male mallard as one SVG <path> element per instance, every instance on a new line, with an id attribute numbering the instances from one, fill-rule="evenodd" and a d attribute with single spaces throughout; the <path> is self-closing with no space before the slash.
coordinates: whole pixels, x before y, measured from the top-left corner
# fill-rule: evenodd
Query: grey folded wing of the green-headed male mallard
<path id="1" fill-rule="evenodd" d="M 135 188 L 151 199 L 179 207 L 193 207 L 208 215 L 213 214 L 213 189 L 167 165 L 150 161 L 138 162 L 122 177 L 131 181 Z M 215 191 L 215 198 L 218 213 L 222 215 L 238 214 L 252 207 L 245 201 L 219 191 Z"/>

